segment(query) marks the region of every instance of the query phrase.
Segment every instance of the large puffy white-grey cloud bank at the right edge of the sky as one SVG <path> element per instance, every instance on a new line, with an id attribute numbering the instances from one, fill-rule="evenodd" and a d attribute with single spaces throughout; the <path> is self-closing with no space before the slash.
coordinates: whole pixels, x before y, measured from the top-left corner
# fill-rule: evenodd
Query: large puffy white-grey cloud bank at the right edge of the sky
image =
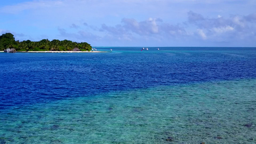
<path id="1" fill-rule="evenodd" d="M 197 27 L 196 34 L 207 41 L 240 41 L 256 39 L 256 14 L 231 15 L 228 18 L 209 18 L 195 12 L 188 13 L 189 24 Z"/>

